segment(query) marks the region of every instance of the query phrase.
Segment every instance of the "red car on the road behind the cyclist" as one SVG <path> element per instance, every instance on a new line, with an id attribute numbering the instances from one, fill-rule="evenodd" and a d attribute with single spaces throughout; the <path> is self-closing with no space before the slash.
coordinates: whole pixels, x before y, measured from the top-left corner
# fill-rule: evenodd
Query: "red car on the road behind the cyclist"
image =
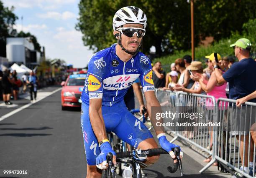
<path id="1" fill-rule="evenodd" d="M 66 110 L 67 107 L 81 107 L 80 99 L 84 88 L 84 80 L 87 74 L 69 75 L 67 80 L 61 83 L 61 109 Z"/>

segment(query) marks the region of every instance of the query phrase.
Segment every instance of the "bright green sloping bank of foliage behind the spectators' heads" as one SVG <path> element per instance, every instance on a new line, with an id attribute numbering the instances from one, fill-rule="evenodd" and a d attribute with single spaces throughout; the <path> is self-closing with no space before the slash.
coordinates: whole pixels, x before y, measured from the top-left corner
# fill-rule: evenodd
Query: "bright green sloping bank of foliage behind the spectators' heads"
<path id="1" fill-rule="evenodd" d="M 249 20 L 247 23 L 242 25 L 242 33 L 239 34 L 237 31 L 232 32 L 230 38 L 224 38 L 208 47 L 195 48 L 195 59 L 204 62 L 205 56 L 211 53 L 219 53 L 222 57 L 233 56 L 234 50 L 230 47 L 231 44 L 235 43 L 239 38 L 248 38 L 252 43 L 251 54 L 253 58 L 256 58 L 256 19 Z M 164 69 L 169 71 L 169 65 L 174 63 L 177 58 L 182 58 L 184 55 L 191 55 L 191 50 L 187 51 L 175 51 L 173 55 L 156 58 L 155 61 L 161 61 Z"/>

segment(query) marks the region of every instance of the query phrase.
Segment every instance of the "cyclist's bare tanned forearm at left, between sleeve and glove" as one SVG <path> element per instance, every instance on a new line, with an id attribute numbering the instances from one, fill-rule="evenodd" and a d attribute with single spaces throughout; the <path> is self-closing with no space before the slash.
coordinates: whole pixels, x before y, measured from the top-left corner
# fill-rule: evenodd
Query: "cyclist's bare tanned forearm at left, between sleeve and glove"
<path id="1" fill-rule="evenodd" d="M 108 139 L 101 111 L 102 99 L 90 99 L 89 116 L 98 142 Z"/>

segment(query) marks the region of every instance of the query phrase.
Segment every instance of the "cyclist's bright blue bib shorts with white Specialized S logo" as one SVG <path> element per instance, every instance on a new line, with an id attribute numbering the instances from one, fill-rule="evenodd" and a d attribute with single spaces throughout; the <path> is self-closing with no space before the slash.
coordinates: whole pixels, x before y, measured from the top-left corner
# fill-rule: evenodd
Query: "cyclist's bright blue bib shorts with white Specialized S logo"
<path id="1" fill-rule="evenodd" d="M 128 111 L 124 101 L 115 105 L 116 107 L 102 106 L 102 117 L 107 132 L 115 133 L 118 138 L 133 147 L 138 147 L 138 144 L 143 140 L 153 138 L 148 128 Z M 96 165 L 96 157 L 100 154 L 100 147 L 92 130 L 89 105 L 86 103 L 82 103 L 81 126 L 87 164 Z"/>

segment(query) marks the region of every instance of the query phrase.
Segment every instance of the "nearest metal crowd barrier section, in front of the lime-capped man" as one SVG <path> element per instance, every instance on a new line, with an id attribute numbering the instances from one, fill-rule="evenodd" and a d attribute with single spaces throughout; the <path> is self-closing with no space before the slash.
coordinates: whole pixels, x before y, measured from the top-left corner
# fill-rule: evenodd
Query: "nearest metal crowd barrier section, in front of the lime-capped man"
<path id="1" fill-rule="evenodd" d="M 215 159 L 247 178 L 256 176 L 256 144 L 251 137 L 251 133 L 256 131 L 251 128 L 256 123 L 256 103 L 246 102 L 238 108 L 236 100 L 219 98 L 217 104 L 225 110 L 218 110 L 221 127 L 216 128 L 218 137 L 215 145 L 218 146 L 215 147 Z"/>

